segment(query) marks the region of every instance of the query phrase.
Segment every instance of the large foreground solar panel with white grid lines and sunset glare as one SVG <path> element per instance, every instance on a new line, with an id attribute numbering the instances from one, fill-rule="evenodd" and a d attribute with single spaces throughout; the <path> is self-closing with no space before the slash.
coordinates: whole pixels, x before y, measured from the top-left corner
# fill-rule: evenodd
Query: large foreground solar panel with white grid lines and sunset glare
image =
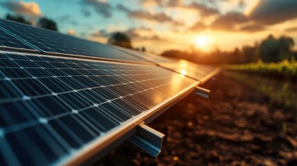
<path id="1" fill-rule="evenodd" d="M 197 84 L 152 65 L 0 53 L 0 165 L 63 163 Z"/>

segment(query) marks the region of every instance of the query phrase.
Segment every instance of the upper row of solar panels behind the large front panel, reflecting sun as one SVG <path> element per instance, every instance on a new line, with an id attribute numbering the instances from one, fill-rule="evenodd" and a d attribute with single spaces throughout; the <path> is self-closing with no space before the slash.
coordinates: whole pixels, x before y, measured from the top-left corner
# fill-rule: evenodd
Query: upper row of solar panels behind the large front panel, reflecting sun
<path id="1" fill-rule="evenodd" d="M 35 50 L 45 54 L 62 53 L 130 62 L 154 63 L 192 77 L 195 80 L 201 80 L 204 75 L 216 69 L 213 66 L 198 65 L 185 60 L 162 57 L 150 53 L 140 53 L 136 50 L 91 42 L 8 20 L 0 19 L 0 25 L 0 46 L 2 47 Z"/>

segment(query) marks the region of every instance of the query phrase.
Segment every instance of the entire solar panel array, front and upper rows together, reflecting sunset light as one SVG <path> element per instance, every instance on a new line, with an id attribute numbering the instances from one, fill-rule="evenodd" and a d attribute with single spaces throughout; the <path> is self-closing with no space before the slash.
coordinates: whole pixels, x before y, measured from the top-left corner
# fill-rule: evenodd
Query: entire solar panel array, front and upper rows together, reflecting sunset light
<path id="1" fill-rule="evenodd" d="M 215 70 L 184 64 L 0 19 L 0 165 L 71 160 Z"/>

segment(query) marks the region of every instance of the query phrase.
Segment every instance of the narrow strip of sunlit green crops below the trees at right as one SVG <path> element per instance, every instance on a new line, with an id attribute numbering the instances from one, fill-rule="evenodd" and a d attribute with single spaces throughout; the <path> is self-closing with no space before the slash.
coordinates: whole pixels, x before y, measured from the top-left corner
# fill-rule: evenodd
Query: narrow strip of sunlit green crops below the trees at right
<path id="1" fill-rule="evenodd" d="M 284 78 L 297 77 L 297 62 L 284 60 L 278 63 L 263 63 L 261 61 L 252 64 L 231 64 L 222 66 L 231 71 L 244 71 L 248 73 L 259 73 L 264 75 L 281 76 Z"/>

